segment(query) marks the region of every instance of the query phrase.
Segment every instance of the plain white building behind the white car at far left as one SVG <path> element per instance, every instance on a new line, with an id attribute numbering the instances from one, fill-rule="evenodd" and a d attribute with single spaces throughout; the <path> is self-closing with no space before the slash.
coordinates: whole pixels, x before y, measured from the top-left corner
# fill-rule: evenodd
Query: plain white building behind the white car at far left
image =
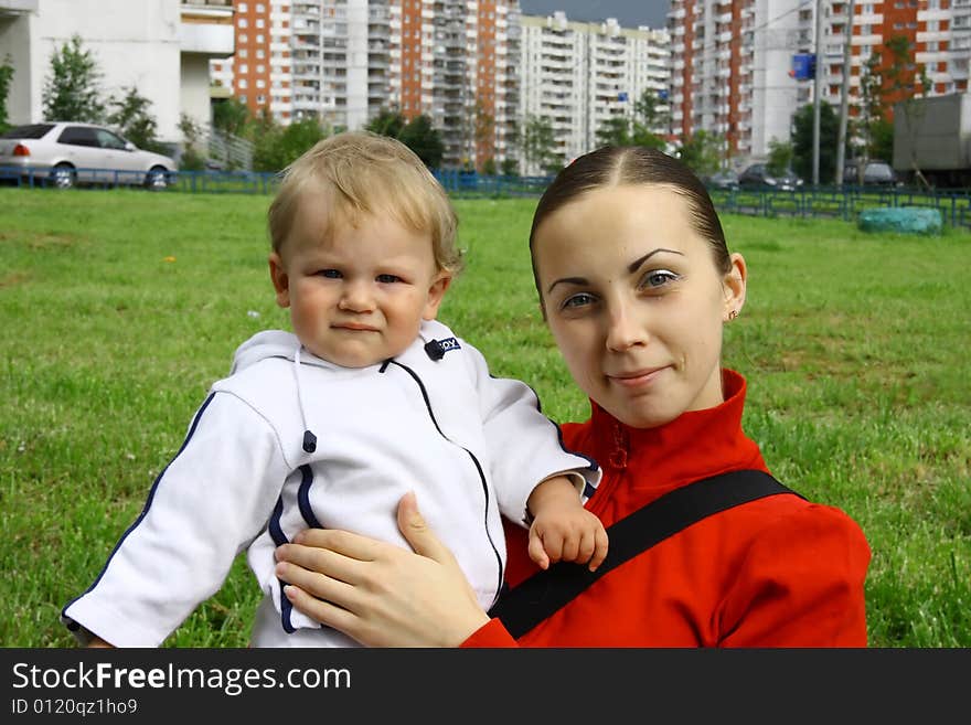
<path id="1" fill-rule="evenodd" d="M 56 49 L 79 35 L 105 97 L 135 86 L 151 102 L 159 140 L 181 141 L 182 114 L 209 125 L 209 63 L 233 53 L 230 0 L 0 0 L 0 49 L 13 64 L 10 121 L 43 120 Z"/>

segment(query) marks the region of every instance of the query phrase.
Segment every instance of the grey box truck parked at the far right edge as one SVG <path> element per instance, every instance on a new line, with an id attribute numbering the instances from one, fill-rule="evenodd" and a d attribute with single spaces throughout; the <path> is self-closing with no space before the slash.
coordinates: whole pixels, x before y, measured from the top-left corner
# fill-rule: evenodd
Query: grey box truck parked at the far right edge
<path id="1" fill-rule="evenodd" d="M 893 167 L 909 184 L 971 186 L 971 93 L 895 104 Z"/>

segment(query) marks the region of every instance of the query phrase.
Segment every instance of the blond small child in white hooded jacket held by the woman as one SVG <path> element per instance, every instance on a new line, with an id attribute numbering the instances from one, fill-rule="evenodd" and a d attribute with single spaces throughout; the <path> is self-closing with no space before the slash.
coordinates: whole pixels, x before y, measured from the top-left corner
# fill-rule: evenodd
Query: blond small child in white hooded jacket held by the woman
<path id="1" fill-rule="evenodd" d="M 480 606 L 503 582 L 500 513 L 530 529 L 542 567 L 596 568 L 607 536 L 583 501 L 594 461 L 563 449 L 523 383 L 436 321 L 460 269 L 441 186 L 402 143 L 321 141 L 269 210 L 269 271 L 294 333 L 264 331 L 199 408 L 92 587 L 64 622 L 88 643 L 156 647 L 247 552 L 264 591 L 257 647 L 356 643 L 294 609 L 274 550 L 306 529 L 407 546 L 395 510 L 415 491 Z"/>

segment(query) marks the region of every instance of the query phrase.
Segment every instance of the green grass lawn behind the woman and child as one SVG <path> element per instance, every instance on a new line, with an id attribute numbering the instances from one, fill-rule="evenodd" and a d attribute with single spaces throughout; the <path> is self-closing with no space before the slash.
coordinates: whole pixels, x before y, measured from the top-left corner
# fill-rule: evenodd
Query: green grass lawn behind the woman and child
<path id="1" fill-rule="evenodd" d="M 253 332 L 287 327 L 262 195 L 0 190 L 0 644 L 62 647 L 61 607 L 100 571 Z M 445 322 L 558 420 L 588 407 L 542 324 L 535 200 L 458 201 L 468 269 Z M 874 557 L 871 643 L 971 646 L 971 236 L 724 218 L 749 265 L 726 364 L 776 476 L 845 510 Z M 245 646 L 242 561 L 167 641 Z"/>

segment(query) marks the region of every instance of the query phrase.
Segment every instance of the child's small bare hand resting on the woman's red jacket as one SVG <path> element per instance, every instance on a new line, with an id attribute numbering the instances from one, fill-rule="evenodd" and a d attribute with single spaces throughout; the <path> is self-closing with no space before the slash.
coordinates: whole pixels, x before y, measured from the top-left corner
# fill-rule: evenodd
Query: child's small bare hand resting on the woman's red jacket
<path id="1" fill-rule="evenodd" d="M 530 558 L 542 569 L 554 562 L 576 562 L 595 572 L 606 556 L 607 531 L 578 501 L 545 507 L 530 526 Z"/>

